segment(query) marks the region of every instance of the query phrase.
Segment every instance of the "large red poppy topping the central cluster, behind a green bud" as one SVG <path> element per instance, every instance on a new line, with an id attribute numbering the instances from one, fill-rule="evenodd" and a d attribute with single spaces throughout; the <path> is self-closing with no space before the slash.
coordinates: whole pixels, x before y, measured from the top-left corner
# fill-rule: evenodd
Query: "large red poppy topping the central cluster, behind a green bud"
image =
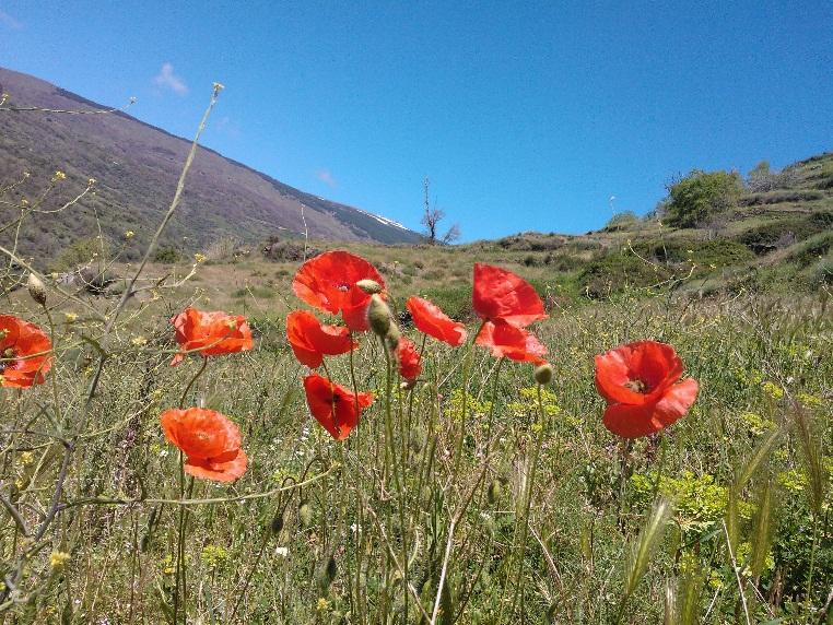
<path id="1" fill-rule="evenodd" d="M 341 312 L 351 330 L 365 331 L 371 296 L 355 285 L 360 280 L 374 280 L 385 288 L 382 275 L 365 259 L 349 251 L 326 251 L 301 266 L 292 290 L 319 310 Z"/>

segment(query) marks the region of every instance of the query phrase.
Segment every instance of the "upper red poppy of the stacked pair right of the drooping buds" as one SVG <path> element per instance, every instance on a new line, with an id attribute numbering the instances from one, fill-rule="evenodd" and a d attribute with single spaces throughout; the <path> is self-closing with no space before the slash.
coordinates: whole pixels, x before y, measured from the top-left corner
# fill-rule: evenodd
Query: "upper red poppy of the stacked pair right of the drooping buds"
<path id="1" fill-rule="evenodd" d="M 531 284 L 511 271 L 491 264 L 474 263 L 471 300 L 481 319 L 501 319 L 516 328 L 526 328 L 532 321 L 547 319 L 543 302 Z"/>

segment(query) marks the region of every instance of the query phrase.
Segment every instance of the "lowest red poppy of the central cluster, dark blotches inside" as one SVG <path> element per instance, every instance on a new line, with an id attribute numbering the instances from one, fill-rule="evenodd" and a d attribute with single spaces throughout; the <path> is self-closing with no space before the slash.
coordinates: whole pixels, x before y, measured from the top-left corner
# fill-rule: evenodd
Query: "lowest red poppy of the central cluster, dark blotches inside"
<path id="1" fill-rule="evenodd" d="M 359 423 L 361 412 L 373 403 L 373 393 L 354 394 L 318 374 L 304 378 L 309 412 L 336 440 L 343 440 Z"/>

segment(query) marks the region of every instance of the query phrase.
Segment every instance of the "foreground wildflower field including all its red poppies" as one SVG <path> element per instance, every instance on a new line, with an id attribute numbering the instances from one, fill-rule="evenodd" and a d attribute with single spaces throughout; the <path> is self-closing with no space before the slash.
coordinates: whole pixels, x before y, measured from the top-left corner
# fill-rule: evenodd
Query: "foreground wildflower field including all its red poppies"
<path id="1" fill-rule="evenodd" d="M 5 623 L 833 618 L 825 290 L 565 302 L 418 251 L 455 319 L 396 247 L 256 292 L 151 245 L 115 297 L 3 251 Z"/>

